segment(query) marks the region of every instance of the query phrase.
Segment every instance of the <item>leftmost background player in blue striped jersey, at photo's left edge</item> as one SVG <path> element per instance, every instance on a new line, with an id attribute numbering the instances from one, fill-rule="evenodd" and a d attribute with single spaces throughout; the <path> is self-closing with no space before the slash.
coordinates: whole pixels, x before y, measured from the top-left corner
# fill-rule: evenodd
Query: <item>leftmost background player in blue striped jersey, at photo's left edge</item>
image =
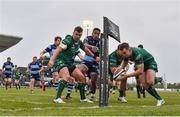
<path id="1" fill-rule="evenodd" d="M 5 75 L 4 82 L 5 82 L 6 90 L 8 89 L 8 85 L 11 88 L 13 68 L 14 68 L 14 64 L 11 62 L 11 58 L 8 57 L 7 62 L 5 62 L 2 67 L 2 72 Z"/>

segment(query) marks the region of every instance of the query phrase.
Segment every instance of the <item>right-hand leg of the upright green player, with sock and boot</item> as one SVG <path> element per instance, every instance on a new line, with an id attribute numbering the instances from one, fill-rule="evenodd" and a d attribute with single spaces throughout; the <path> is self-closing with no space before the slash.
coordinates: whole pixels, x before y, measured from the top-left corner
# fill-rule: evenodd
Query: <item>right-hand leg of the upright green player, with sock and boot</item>
<path id="1" fill-rule="evenodd" d="M 75 68 L 72 72 L 72 76 L 74 78 L 77 78 L 78 81 L 79 81 L 79 92 L 80 92 L 80 102 L 90 102 L 92 103 L 92 101 L 86 99 L 86 96 L 85 96 L 85 85 L 86 85 L 86 79 L 85 79 L 85 76 L 83 75 L 83 73 L 78 69 L 78 68 Z"/>

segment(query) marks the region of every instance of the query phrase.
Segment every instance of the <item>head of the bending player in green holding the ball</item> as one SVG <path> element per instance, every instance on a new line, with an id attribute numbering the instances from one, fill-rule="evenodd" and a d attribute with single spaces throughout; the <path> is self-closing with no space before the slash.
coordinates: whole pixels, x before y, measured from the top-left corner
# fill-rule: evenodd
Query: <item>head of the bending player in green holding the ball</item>
<path id="1" fill-rule="evenodd" d="M 120 50 L 120 54 L 123 57 L 130 57 L 131 56 L 131 48 L 128 43 L 121 43 L 118 46 L 118 50 Z"/>

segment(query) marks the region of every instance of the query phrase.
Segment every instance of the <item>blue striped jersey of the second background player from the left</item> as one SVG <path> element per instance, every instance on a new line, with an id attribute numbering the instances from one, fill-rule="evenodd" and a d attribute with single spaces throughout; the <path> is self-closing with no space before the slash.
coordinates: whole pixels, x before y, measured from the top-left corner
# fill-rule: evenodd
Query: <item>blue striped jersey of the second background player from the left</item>
<path id="1" fill-rule="evenodd" d="M 39 70 L 41 69 L 41 67 L 42 64 L 40 62 L 35 62 L 35 63 L 31 62 L 28 65 L 31 75 L 39 75 Z"/>

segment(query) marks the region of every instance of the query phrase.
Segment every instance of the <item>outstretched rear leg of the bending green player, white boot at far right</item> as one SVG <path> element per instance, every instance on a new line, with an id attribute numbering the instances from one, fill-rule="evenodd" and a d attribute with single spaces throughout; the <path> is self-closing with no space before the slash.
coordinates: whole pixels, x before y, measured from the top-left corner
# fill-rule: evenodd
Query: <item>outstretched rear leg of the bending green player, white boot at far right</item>
<path id="1" fill-rule="evenodd" d="M 155 82 L 155 76 L 156 76 L 156 72 L 153 69 L 148 69 L 145 72 L 146 74 L 146 84 L 148 85 L 148 92 L 151 92 L 151 95 L 157 99 L 157 106 L 161 106 L 162 104 L 165 103 L 165 101 L 161 98 L 161 96 L 158 94 L 158 92 L 156 91 L 156 89 L 154 87 L 152 87 Z"/>

